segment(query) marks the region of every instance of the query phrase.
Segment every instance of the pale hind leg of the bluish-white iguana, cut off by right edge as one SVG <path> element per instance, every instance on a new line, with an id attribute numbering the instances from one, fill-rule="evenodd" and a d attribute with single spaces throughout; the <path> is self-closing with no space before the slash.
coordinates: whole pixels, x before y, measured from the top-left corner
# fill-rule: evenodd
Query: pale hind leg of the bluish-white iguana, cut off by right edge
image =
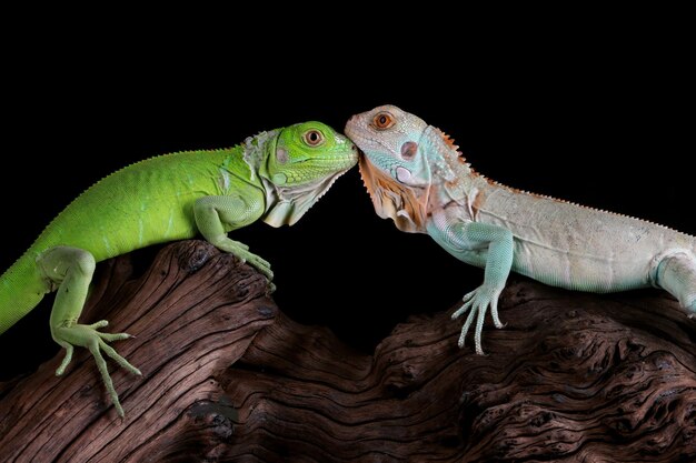
<path id="1" fill-rule="evenodd" d="M 689 318 L 696 318 L 696 256 L 686 251 L 664 256 L 657 266 L 655 283 L 674 295 Z"/>

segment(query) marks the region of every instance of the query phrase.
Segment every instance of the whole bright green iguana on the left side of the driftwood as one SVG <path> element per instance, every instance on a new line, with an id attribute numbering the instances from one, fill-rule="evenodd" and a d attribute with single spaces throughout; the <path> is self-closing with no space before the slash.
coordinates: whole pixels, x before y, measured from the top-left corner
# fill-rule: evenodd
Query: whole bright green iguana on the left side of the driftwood
<path id="1" fill-rule="evenodd" d="M 119 415 L 103 351 L 120 366 L 140 371 L 110 341 L 130 338 L 97 331 L 107 321 L 79 324 L 99 261 L 155 243 L 196 236 L 257 268 L 269 281 L 267 261 L 227 232 L 262 220 L 291 225 L 358 162 L 356 147 L 320 122 L 262 132 L 230 149 L 150 158 L 102 179 L 70 203 L 29 250 L 0 276 L 0 334 L 57 290 L 50 316 L 53 340 L 90 350 Z"/>

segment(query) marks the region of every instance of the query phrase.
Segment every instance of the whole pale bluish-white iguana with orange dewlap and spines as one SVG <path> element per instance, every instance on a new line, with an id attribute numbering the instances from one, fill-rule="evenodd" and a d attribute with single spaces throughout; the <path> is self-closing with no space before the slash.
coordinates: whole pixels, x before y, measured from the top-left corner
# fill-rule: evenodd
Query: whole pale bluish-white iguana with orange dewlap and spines
<path id="1" fill-rule="evenodd" d="M 696 238 L 493 182 L 471 170 L 444 132 L 394 105 L 354 115 L 345 133 L 364 153 L 360 173 L 379 217 L 485 269 L 484 283 L 453 314 L 469 311 L 459 346 L 476 319 L 483 354 L 488 308 L 503 328 L 497 301 L 510 270 L 598 293 L 663 288 L 696 314 Z"/>

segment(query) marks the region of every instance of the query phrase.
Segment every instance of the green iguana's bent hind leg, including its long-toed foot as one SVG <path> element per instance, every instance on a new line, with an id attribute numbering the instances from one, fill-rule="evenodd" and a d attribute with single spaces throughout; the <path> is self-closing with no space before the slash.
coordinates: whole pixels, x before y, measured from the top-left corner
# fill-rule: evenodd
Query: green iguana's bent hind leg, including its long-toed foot
<path id="1" fill-rule="evenodd" d="M 107 362 L 101 351 L 113 359 L 121 368 L 133 374 L 141 374 L 126 359 L 119 355 L 107 342 L 130 338 L 126 333 L 100 333 L 97 330 L 109 324 L 106 320 L 89 325 L 79 324 L 78 319 L 87 299 L 89 283 L 95 273 L 95 258 L 89 252 L 68 246 L 51 248 L 39 256 L 37 264 L 53 285 L 58 286 L 53 310 L 51 311 L 51 335 L 66 350 L 66 356 L 60 363 L 57 375 L 61 375 L 72 359 L 73 348 L 87 348 L 92 353 L 107 392 L 120 416 L 123 409 L 111 382 Z"/>

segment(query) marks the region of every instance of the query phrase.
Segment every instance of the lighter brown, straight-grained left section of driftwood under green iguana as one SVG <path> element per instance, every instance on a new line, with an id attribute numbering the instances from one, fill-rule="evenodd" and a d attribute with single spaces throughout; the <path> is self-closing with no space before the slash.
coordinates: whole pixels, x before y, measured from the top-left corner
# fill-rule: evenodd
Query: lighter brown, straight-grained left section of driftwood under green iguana
<path id="1" fill-rule="evenodd" d="M 190 456 L 197 434 L 231 432 L 236 411 L 217 376 L 272 322 L 266 280 L 202 241 L 165 248 L 136 279 L 130 263 L 121 256 L 101 265 L 82 316 L 137 335 L 113 345 L 142 378 L 109 362 L 126 419 L 110 405 L 86 350 L 76 350 L 64 378 L 53 375 L 60 352 L 0 387 L 0 461 L 170 461 L 181 451 Z M 206 410 L 215 425 L 201 420 Z"/>

